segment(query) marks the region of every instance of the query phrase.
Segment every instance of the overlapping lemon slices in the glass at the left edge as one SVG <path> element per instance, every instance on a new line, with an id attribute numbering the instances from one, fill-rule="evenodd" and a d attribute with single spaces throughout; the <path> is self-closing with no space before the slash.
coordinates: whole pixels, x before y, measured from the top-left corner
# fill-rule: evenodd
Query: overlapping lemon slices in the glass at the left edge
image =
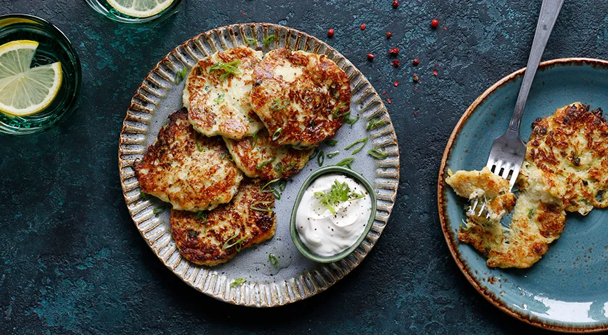
<path id="1" fill-rule="evenodd" d="M 0 112 L 24 117 L 44 110 L 61 87 L 61 63 L 29 68 L 38 42 L 0 45 Z"/>

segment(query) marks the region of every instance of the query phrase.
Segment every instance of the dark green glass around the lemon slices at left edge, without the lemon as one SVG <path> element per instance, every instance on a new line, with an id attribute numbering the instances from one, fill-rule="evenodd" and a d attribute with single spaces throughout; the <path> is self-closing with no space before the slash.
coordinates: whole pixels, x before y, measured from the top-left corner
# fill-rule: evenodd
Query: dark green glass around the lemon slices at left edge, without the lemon
<path id="1" fill-rule="evenodd" d="M 72 43 L 48 21 L 27 14 L 0 15 L 0 45 L 12 40 L 35 40 L 38 48 L 32 66 L 61 61 L 63 80 L 52 103 L 36 114 L 9 117 L 0 113 L 0 133 L 29 135 L 38 133 L 66 119 L 78 105 L 82 68 Z"/>

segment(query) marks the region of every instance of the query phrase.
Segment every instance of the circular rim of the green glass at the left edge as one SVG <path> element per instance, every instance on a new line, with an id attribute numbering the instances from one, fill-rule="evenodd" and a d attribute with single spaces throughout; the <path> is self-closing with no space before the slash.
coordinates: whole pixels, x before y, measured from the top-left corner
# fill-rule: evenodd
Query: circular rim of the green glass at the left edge
<path id="1" fill-rule="evenodd" d="M 45 126 L 30 128 L 31 131 L 24 131 L 23 129 L 19 130 L 17 133 L 12 133 L 12 132 L 6 133 L 3 131 L 0 131 L 0 133 L 3 135 L 29 135 L 32 133 L 38 133 L 40 131 L 44 131 L 48 128 L 51 128 L 52 126 L 57 125 L 60 121 L 63 121 L 66 117 L 68 117 L 73 112 L 73 110 L 76 109 L 76 107 L 78 106 L 78 98 L 80 98 L 80 89 L 82 87 L 82 64 L 80 64 L 80 56 L 78 55 L 78 52 L 76 52 L 76 49 L 75 49 L 74 45 L 72 44 L 71 40 L 68 38 L 68 36 L 66 36 L 66 34 L 64 34 L 63 31 L 61 31 L 61 29 L 59 29 L 57 26 L 55 26 L 55 24 L 48 22 L 47 20 L 43 19 L 42 17 L 37 17 L 34 15 L 29 15 L 29 14 L 24 14 L 24 13 L 9 13 L 9 14 L 0 15 L 0 22 L 1 22 L 1 20 L 10 19 L 10 18 L 22 18 L 22 19 L 31 20 L 31 21 L 41 24 L 44 27 L 44 29 L 47 30 L 48 33 L 52 34 L 54 36 L 54 38 L 61 45 L 64 45 L 66 52 L 68 53 L 68 59 L 73 64 L 74 72 L 75 72 L 75 73 L 73 73 L 74 89 L 69 94 L 69 103 L 64 107 L 64 110 L 59 112 L 59 117 L 57 118 L 56 121 L 52 122 L 51 124 L 45 125 Z M 15 23 L 17 23 L 17 22 L 15 22 Z M 10 24 L 7 24 L 6 26 L 8 27 L 9 25 Z"/>

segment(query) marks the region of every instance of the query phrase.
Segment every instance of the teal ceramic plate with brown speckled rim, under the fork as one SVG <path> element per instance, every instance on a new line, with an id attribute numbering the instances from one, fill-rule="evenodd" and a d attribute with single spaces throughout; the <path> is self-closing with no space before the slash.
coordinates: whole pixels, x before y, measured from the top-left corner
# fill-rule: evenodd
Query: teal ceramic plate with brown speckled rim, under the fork
<path id="1" fill-rule="evenodd" d="M 492 141 L 507 129 L 522 77 L 523 69 L 485 91 L 451 134 L 437 191 L 445 239 L 470 283 L 505 313 L 537 327 L 563 332 L 607 330 L 607 209 L 594 209 L 585 217 L 569 213 L 560 239 L 531 269 L 490 269 L 483 255 L 458 243 L 456 231 L 465 218 L 465 200 L 446 187 L 447 169 L 479 170 L 485 165 Z M 537 117 L 547 117 L 575 101 L 608 110 L 608 61 L 543 62 L 526 104 L 522 138 L 530 138 L 531 124 Z"/>

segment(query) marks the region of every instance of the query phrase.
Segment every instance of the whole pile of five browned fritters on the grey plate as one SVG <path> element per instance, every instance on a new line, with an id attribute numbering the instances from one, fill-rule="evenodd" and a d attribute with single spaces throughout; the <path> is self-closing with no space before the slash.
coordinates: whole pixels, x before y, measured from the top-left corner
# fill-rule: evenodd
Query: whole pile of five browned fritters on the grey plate
<path id="1" fill-rule="evenodd" d="M 347 75 L 324 55 L 280 49 L 262 59 L 236 47 L 198 61 L 185 107 L 135 165 L 142 191 L 173 205 L 182 256 L 218 265 L 273 237 L 275 198 L 263 185 L 302 170 L 350 99 Z"/>

